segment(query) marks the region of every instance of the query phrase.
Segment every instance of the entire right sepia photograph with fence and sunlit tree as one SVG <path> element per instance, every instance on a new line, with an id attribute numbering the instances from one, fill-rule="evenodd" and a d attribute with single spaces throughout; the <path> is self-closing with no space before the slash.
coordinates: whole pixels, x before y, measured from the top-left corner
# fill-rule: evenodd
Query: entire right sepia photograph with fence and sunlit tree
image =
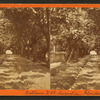
<path id="1" fill-rule="evenodd" d="M 53 8 L 51 89 L 100 90 L 100 8 Z"/>

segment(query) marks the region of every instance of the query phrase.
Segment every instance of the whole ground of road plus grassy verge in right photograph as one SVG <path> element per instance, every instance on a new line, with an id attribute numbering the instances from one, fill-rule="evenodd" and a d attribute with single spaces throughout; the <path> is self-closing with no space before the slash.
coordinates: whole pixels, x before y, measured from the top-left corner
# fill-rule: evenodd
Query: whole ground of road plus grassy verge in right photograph
<path id="1" fill-rule="evenodd" d="M 100 55 L 51 69 L 51 89 L 100 90 Z"/>

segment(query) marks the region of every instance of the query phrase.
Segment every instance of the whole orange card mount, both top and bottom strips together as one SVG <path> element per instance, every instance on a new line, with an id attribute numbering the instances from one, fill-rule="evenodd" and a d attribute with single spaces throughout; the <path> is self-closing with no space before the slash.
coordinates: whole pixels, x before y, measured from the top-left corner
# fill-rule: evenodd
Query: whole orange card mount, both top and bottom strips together
<path id="1" fill-rule="evenodd" d="M 99 8 L 100 4 L 0 4 L 6 7 L 84 7 Z M 100 90 L 0 90 L 1 96 L 100 96 Z"/>

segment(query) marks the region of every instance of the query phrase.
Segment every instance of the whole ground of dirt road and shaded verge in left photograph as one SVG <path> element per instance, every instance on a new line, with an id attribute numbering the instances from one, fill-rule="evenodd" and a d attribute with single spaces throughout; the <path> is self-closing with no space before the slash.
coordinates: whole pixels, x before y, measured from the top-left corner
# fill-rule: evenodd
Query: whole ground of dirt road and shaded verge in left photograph
<path id="1" fill-rule="evenodd" d="M 49 69 L 17 55 L 0 57 L 0 89 L 50 89 Z"/>

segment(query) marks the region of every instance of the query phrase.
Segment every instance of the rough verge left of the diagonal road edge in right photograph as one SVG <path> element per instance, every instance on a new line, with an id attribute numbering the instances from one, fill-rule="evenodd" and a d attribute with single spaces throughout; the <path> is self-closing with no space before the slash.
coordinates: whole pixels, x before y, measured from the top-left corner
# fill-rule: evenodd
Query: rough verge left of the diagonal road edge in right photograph
<path id="1" fill-rule="evenodd" d="M 51 68 L 51 89 L 70 89 L 89 56 Z"/>

